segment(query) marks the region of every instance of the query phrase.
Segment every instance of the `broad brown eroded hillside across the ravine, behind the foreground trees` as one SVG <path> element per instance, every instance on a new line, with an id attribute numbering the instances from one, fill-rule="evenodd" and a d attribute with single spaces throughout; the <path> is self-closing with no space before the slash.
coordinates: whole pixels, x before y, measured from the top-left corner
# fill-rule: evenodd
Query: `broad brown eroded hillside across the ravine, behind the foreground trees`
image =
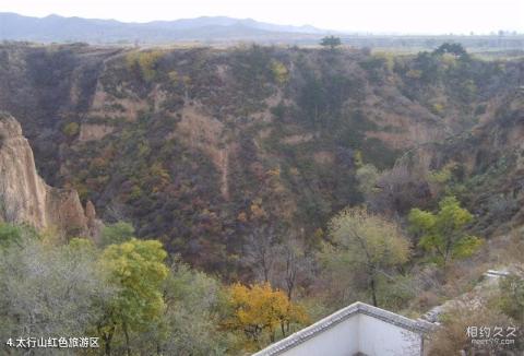
<path id="1" fill-rule="evenodd" d="M 406 152 L 424 162 L 400 191 L 382 189 L 381 211 L 432 206 L 427 175 L 453 161 L 455 186 L 472 186 L 465 202 L 489 224 L 479 229 L 520 223 L 523 73 L 522 61 L 452 52 L 4 45 L 0 108 L 46 181 L 235 274 L 253 228 L 312 242 L 364 202 L 360 165 L 386 176 Z M 512 191 L 489 183 L 502 177 Z M 514 209 L 491 206 L 500 194 Z"/>

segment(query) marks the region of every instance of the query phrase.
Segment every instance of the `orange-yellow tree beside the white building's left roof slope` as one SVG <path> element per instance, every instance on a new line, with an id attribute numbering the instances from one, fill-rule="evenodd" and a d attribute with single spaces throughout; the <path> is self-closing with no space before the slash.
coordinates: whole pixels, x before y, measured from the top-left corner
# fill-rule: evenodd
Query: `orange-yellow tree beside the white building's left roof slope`
<path id="1" fill-rule="evenodd" d="M 229 287 L 228 296 L 230 315 L 225 327 L 243 334 L 243 347 L 248 351 L 285 337 L 294 328 L 308 322 L 306 310 L 269 283 L 236 283 Z"/>

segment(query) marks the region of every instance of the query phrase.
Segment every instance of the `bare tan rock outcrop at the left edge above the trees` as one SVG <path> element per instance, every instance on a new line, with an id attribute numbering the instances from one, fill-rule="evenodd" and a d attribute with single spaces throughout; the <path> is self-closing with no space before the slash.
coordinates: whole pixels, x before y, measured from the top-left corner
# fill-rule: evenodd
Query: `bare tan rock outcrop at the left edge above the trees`
<path id="1" fill-rule="evenodd" d="M 55 227 L 66 236 L 90 235 L 78 192 L 46 185 L 20 123 L 5 112 L 0 112 L 0 218 Z"/>

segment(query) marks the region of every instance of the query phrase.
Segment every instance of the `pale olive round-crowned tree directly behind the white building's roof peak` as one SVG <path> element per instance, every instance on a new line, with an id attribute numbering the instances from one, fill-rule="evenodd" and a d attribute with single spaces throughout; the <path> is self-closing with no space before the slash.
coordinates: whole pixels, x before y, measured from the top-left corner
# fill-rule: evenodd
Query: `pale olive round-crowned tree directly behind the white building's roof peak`
<path id="1" fill-rule="evenodd" d="M 345 209 L 329 224 L 333 245 L 325 246 L 323 257 L 329 268 L 354 272 L 367 278 L 374 306 L 378 305 L 379 275 L 407 262 L 409 241 L 392 221 L 364 207 Z"/>

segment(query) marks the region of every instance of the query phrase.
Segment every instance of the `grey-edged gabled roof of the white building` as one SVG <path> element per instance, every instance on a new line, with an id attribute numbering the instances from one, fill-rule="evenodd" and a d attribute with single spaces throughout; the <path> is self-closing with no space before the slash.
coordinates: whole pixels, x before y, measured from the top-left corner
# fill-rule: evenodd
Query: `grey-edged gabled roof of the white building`
<path id="1" fill-rule="evenodd" d="M 293 348 L 315 335 L 326 331 L 330 328 L 335 327 L 336 324 L 343 322 L 352 318 L 355 315 L 366 315 L 372 318 L 380 319 L 385 321 L 390 324 L 394 324 L 396 327 L 406 329 L 408 331 L 425 334 L 428 332 L 433 325 L 424 320 L 412 320 L 406 317 L 400 316 L 397 313 L 372 307 L 361 301 L 357 301 L 352 304 L 350 306 L 343 308 L 331 316 L 315 322 L 314 324 L 302 329 L 286 339 L 281 340 L 277 343 L 274 343 L 266 348 L 258 352 L 253 356 L 272 356 L 272 355 L 279 355 L 289 348 Z"/>

